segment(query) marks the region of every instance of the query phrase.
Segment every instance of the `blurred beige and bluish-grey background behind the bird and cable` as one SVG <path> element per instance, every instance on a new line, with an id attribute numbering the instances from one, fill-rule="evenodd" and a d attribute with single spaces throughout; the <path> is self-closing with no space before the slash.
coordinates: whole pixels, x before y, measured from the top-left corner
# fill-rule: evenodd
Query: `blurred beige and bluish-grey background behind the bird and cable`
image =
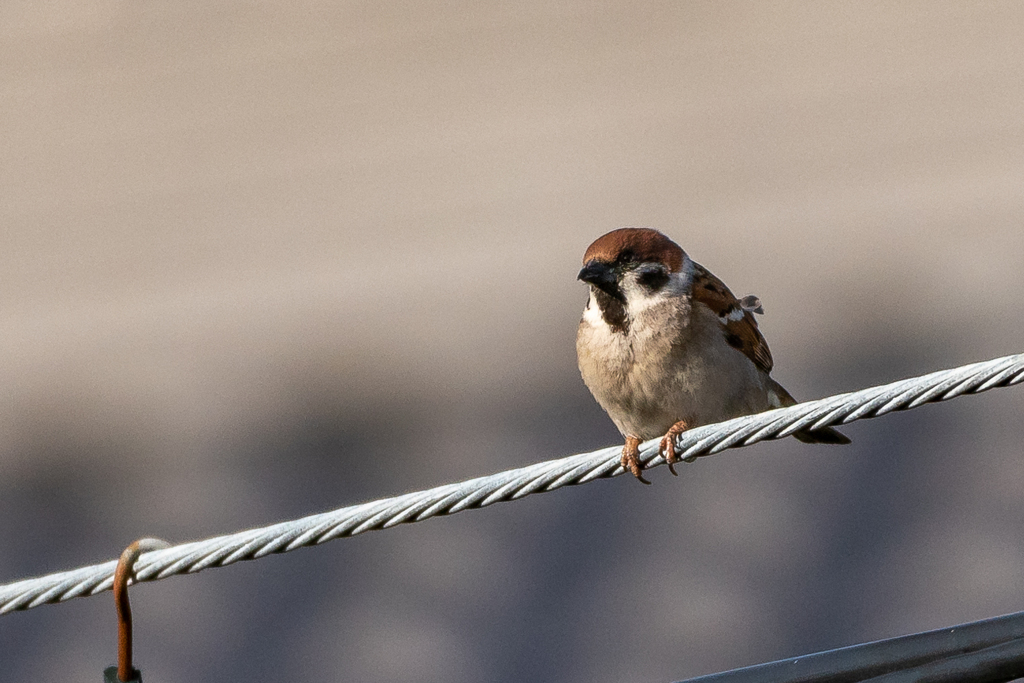
<path id="1" fill-rule="evenodd" d="M 798 397 L 1024 350 L 1024 5 L 0 5 L 0 583 L 612 445 L 655 226 Z M 133 589 L 145 680 L 672 681 L 1024 609 L 1024 390 Z M 99 680 L 109 593 L 0 617 Z"/>

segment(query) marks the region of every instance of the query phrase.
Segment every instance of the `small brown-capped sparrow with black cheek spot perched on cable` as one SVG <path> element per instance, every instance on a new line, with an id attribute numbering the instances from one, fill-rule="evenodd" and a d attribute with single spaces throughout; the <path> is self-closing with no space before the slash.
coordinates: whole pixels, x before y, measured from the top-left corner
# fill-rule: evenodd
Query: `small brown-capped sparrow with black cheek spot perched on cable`
<path id="1" fill-rule="evenodd" d="M 577 333 L 580 373 L 626 437 L 623 468 L 640 481 L 642 441 L 663 436 L 669 469 L 675 438 L 691 427 L 793 405 L 769 377 L 768 343 L 754 319 L 757 297 L 737 299 L 721 280 L 657 230 L 623 227 L 598 238 L 579 279 L 590 299 Z M 794 434 L 849 443 L 830 427 Z"/>

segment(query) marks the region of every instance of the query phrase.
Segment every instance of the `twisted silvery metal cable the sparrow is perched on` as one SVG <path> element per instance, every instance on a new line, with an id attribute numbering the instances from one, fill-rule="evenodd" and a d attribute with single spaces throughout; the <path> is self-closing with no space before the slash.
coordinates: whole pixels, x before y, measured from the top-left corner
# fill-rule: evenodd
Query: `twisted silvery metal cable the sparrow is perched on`
<path id="1" fill-rule="evenodd" d="M 677 438 L 676 452 L 684 460 L 692 461 L 726 449 L 788 436 L 805 428 L 847 424 L 1022 381 L 1024 354 L 1009 355 L 690 429 Z M 618 446 L 602 449 L 262 528 L 152 550 L 139 557 L 133 583 L 226 566 L 364 531 L 617 476 L 623 473 L 620 454 Z M 641 445 L 640 459 L 647 467 L 665 464 L 658 454 L 658 439 Z M 110 590 L 116 565 L 117 561 L 111 560 L 0 586 L 0 614 Z"/>

